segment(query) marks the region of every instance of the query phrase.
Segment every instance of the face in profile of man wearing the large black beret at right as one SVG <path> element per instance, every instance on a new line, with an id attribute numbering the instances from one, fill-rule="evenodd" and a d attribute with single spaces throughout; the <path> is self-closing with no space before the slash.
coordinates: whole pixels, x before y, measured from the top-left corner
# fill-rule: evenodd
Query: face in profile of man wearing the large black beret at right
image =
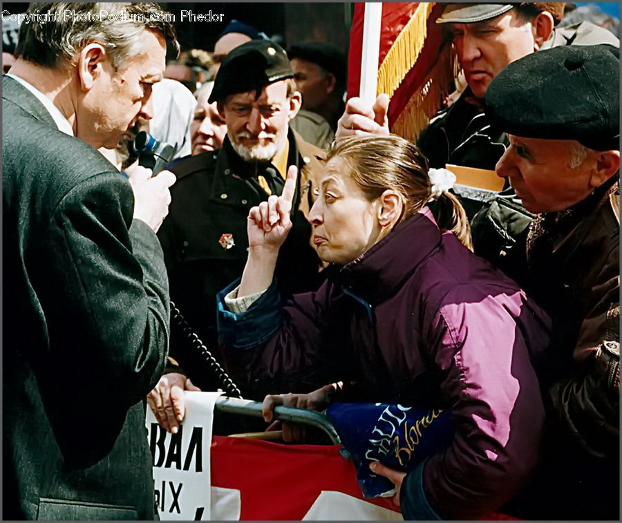
<path id="1" fill-rule="evenodd" d="M 527 211 L 561 211 L 580 202 L 594 189 L 590 184 L 592 153 L 588 152 L 587 158 L 585 154 L 582 157 L 573 153 L 583 150 L 578 142 L 507 137 L 510 146 L 497 162 L 496 172 L 509 178 Z"/>

